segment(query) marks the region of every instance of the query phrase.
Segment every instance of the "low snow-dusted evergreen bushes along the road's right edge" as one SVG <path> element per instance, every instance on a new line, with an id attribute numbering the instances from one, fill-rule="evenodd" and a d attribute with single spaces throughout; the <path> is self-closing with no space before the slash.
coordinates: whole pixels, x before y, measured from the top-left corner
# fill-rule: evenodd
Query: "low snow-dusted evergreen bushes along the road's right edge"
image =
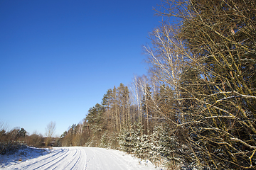
<path id="1" fill-rule="evenodd" d="M 149 159 L 156 165 L 173 168 L 185 162 L 183 147 L 174 135 L 170 135 L 168 125 L 159 125 L 151 135 L 143 133 L 143 126 L 133 125 L 131 130 L 122 130 L 119 135 L 122 151 L 134 154 L 141 159 Z"/>

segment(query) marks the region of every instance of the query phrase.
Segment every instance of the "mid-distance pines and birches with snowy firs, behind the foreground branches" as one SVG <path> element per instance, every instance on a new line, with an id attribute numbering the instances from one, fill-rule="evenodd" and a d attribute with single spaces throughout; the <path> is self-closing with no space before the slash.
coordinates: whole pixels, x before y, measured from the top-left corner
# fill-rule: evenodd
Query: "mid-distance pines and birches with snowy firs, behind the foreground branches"
<path id="1" fill-rule="evenodd" d="M 170 167 L 183 162 L 178 155 L 174 157 L 174 151 L 182 152 L 186 147 L 169 131 L 173 127 L 168 119 L 174 119 L 169 111 L 171 89 L 159 84 L 152 91 L 146 81 L 146 76 L 134 77 L 130 89 L 121 83 L 107 90 L 102 102 L 90 108 L 82 123 L 72 125 L 60 136 L 60 144 L 122 149 Z"/>

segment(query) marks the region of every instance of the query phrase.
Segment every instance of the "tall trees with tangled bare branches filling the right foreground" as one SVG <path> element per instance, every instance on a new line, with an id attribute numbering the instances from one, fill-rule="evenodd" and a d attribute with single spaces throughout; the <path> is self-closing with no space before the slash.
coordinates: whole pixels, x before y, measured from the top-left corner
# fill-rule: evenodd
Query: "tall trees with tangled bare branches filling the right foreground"
<path id="1" fill-rule="evenodd" d="M 186 127 L 203 166 L 255 166 L 256 2 L 162 2 L 159 16 L 183 19 L 179 27 L 156 28 L 145 47 L 151 74 L 174 91 L 169 113 L 178 121 L 168 121 Z"/>

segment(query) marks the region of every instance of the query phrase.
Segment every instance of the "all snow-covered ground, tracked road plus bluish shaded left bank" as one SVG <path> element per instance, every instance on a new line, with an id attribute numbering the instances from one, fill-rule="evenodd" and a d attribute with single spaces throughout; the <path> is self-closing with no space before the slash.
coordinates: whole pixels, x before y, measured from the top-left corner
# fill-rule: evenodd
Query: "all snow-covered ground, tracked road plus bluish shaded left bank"
<path id="1" fill-rule="evenodd" d="M 27 147 L 0 155 L 0 169 L 160 169 L 149 161 L 112 149 L 97 147 Z"/>

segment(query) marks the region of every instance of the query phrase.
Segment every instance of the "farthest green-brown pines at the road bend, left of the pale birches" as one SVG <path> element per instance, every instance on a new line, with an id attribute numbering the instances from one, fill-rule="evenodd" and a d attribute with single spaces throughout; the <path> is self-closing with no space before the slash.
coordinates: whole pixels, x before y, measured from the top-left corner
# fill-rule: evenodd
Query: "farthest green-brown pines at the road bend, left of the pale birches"
<path id="1" fill-rule="evenodd" d="M 65 135 L 62 135 L 61 143 L 68 146 L 77 145 L 72 141 L 80 134 L 82 143 L 79 145 L 115 148 L 119 132 L 130 128 L 131 122 L 129 90 L 127 86 L 120 84 L 119 87 L 107 91 L 101 104 L 97 103 L 89 109 L 82 123 L 73 125 Z M 71 142 L 68 144 L 69 138 Z"/>

